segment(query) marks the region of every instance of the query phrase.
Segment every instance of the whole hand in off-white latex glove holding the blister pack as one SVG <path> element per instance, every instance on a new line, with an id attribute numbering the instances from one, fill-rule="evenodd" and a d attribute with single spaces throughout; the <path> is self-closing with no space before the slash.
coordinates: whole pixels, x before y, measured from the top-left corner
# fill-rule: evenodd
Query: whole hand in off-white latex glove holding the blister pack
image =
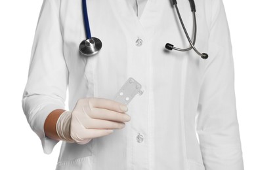
<path id="1" fill-rule="evenodd" d="M 113 129 L 125 127 L 131 117 L 125 105 L 109 99 L 85 98 L 77 101 L 73 111 L 65 111 L 56 123 L 60 139 L 86 144 L 95 137 L 109 135 Z"/>

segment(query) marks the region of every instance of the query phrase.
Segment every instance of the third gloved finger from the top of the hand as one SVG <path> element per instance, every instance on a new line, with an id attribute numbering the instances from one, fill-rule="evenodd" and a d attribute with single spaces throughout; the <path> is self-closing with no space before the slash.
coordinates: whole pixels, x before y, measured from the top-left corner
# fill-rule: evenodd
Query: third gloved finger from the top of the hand
<path id="1" fill-rule="evenodd" d="M 81 122 L 87 129 L 122 129 L 125 127 L 124 123 L 112 122 L 110 120 L 90 119 Z"/>

